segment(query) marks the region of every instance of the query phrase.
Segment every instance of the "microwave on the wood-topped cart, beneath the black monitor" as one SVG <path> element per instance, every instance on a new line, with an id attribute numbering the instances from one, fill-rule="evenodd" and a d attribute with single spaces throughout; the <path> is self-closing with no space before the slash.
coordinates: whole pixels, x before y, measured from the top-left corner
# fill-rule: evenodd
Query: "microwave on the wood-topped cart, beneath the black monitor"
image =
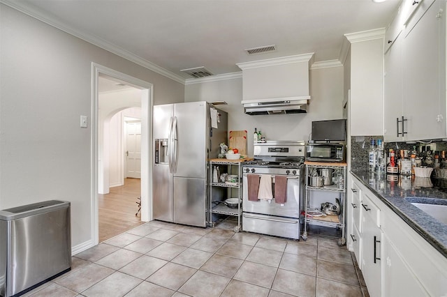
<path id="1" fill-rule="evenodd" d="M 344 162 L 344 144 L 307 144 L 306 160 L 314 162 Z"/>

